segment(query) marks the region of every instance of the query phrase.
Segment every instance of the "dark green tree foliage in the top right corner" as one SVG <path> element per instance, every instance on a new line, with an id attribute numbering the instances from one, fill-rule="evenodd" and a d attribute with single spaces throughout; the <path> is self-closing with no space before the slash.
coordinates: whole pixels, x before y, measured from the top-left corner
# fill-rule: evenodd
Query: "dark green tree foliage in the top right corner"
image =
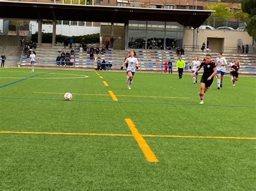
<path id="1" fill-rule="evenodd" d="M 248 34 L 256 40 L 256 0 L 242 0 L 242 11 L 248 13 L 250 20 L 246 23 Z"/>

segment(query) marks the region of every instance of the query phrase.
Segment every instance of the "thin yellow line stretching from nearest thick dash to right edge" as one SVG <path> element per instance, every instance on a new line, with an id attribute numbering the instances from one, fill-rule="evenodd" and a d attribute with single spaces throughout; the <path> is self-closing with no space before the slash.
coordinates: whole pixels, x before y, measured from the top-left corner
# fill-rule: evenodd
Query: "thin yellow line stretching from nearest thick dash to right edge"
<path id="1" fill-rule="evenodd" d="M 220 137 L 220 136 L 186 136 L 186 135 L 143 135 L 143 137 L 177 137 L 177 138 L 210 138 L 210 139 L 252 139 L 256 137 Z"/>

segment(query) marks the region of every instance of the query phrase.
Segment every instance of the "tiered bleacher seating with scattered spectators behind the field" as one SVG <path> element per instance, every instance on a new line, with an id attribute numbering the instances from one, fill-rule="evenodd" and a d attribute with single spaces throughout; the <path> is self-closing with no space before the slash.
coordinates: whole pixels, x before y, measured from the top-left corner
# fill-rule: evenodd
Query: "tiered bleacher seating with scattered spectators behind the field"
<path id="1" fill-rule="evenodd" d="M 61 51 L 68 52 L 70 48 L 61 47 Z M 106 62 L 112 63 L 112 69 L 119 69 L 120 65 L 123 63 L 125 55 L 129 52 L 127 50 L 109 50 L 104 54 L 99 54 L 98 56 Z M 176 52 L 172 51 L 163 51 L 163 50 L 145 50 L 145 49 L 136 49 L 137 58 L 140 65 L 140 70 L 145 71 L 163 71 L 163 63 L 165 60 L 171 60 L 173 63 L 173 70 L 176 70 L 176 61 L 178 56 Z M 38 47 L 36 49 L 37 53 L 37 62 L 38 66 L 56 66 L 56 58 L 60 55 L 60 47 Z M 207 52 L 208 53 L 208 52 Z M 199 60 L 203 60 L 205 52 L 190 52 L 186 51 L 183 55 L 183 60 L 189 63 L 194 59 L 194 55 L 199 56 Z M 217 53 L 210 53 L 213 56 L 213 59 L 217 57 Z M 95 54 L 95 57 L 97 55 Z M 97 57 L 98 57 L 97 56 Z M 223 56 L 227 59 L 228 63 L 231 59 L 238 59 L 241 62 L 240 73 L 241 74 L 256 74 L 256 55 L 253 54 L 230 54 L 224 53 Z M 97 68 L 96 60 L 90 60 L 90 55 L 87 52 L 79 52 L 79 48 L 76 48 L 75 55 L 75 67 L 81 68 Z M 185 70 L 185 72 L 190 72 L 190 70 Z"/>

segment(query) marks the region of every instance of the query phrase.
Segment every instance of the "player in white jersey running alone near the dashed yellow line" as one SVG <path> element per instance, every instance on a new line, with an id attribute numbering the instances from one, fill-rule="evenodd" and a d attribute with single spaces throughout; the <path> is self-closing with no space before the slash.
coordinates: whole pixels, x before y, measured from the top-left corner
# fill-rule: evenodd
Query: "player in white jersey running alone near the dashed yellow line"
<path id="1" fill-rule="evenodd" d="M 126 74 L 129 76 L 129 78 L 127 79 L 128 89 L 131 89 L 132 79 L 135 74 L 135 70 L 139 68 L 138 60 L 134 57 L 134 51 L 130 51 L 130 57 L 125 60 L 121 67 L 121 70 L 123 70 L 126 63 L 128 63 L 128 67 L 126 68 Z"/>

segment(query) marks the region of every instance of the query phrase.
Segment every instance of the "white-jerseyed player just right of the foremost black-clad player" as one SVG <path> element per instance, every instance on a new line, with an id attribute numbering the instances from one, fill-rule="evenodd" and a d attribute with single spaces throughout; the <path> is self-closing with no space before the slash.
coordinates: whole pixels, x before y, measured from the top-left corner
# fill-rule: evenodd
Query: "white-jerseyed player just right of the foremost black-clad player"
<path id="1" fill-rule="evenodd" d="M 218 53 L 218 57 L 216 58 L 216 63 L 217 65 L 217 89 L 222 88 L 223 86 L 223 76 L 226 72 L 226 66 L 227 66 L 227 61 L 226 59 L 222 56 L 222 53 Z"/>

